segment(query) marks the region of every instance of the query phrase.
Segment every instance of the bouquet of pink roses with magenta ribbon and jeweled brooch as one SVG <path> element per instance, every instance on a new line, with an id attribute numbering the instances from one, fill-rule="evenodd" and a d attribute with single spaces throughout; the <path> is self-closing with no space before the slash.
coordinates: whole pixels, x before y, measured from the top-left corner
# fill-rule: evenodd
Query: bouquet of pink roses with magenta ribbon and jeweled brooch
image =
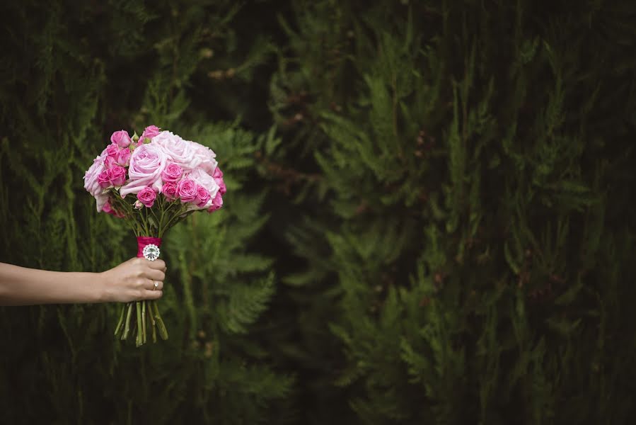
<path id="1" fill-rule="evenodd" d="M 125 130 L 110 137 L 110 145 L 93 160 L 84 175 L 84 188 L 95 197 L 97 211 L 122 218 L 137 236 L 137 256 L 154 261 L 161 238 L 170 227 L 195 211 L 214 212 L 226 192 L 223 173 L 212 149 L 183 140 L 154 125 L 141 136 Z M 155 300 L 122 306 L 115 336 L 134 334 L 136 345 L 153 341 L 158 331 L 168 339 Z"/>

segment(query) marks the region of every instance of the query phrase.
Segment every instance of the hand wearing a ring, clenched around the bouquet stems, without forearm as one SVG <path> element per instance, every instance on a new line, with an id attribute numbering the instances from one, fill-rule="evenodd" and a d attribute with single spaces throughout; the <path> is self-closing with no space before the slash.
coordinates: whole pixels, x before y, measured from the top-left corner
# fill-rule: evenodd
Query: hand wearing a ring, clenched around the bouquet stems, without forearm
<path id="1" fill-rule="evenodd" d="M 103 280 L 105 302 L 158 300 L 163 295 L 166 263 L 133 258 L 115 268 L 100 273 Z M 155 288 L 155 282 L 158 285 Z"/>

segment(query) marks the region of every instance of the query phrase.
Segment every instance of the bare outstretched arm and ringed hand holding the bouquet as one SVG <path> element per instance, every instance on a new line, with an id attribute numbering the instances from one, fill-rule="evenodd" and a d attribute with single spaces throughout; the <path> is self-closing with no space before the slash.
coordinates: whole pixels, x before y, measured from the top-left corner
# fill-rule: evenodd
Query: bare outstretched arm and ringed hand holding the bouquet
<path id="1" fill-rule="evenodd" d="M 156 300 L 163 293 L 165 271 L 162 260 L 142 258 L 129 259 L 102 273 L 45 271 L 0 263 L 0 305 Z"/>

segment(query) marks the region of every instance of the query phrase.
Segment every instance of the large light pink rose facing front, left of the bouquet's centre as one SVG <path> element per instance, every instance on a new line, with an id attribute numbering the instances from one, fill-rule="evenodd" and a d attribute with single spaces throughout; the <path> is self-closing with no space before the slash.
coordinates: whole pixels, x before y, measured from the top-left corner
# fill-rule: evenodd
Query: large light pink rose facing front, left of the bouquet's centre
<path id="1" fill-rule="evenodd" d="M 156 191 L 161 189 L 161 173 L 166 168 L 167 161 L 166 152 L 153 143 L 134 149 L 128 168 L 129 180 L 120 189 L 120 194 L 126 196 L 128 193 L 139 193 L 146 186 L 152 186 Z"/>

